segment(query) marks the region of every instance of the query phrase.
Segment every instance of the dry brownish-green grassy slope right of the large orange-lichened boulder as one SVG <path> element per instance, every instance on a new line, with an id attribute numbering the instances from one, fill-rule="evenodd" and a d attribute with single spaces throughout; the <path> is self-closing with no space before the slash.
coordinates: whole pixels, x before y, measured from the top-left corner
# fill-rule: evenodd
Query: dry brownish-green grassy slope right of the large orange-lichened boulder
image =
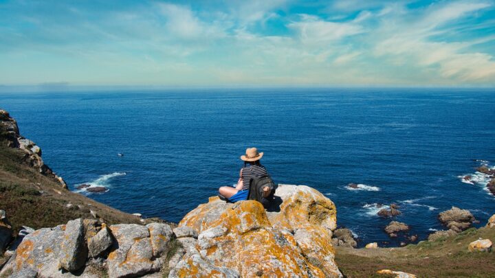
<path id="1" fill-rule="evenodd" d="M 338 246 L 336 263 L 345 277 L 384 277 L 376 274 L 381 269 L 404 271 L 417 277 L 495 277 L 495 252 L 467 251 L 470 242 L 478 238 L 495 242 L 495 228 L 472 228 L 450 238 L 401 248 Z"/>

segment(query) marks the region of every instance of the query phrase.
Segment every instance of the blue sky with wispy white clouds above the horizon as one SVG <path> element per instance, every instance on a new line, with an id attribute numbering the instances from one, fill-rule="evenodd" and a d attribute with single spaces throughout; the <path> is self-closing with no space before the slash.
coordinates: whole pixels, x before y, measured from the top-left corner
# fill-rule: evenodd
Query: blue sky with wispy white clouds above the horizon
<path id="1" fill-rule="evenodd" d="M 0 86 L 495 86 L 495 0 L 0 0 Z"/>

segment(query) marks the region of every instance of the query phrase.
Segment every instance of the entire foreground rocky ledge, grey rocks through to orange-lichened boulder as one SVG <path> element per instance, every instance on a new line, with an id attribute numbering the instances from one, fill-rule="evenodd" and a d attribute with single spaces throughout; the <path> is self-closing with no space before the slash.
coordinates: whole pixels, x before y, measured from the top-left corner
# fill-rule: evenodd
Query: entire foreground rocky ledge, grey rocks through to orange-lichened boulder
<path id="1" fill-rule="evenodd" d="M 11 240 L 0 277 L 342 277 L 331 244 L 336 207 L 304 185 L 280 206 L 210 198 L 179 227 L 76 219 Z"/>

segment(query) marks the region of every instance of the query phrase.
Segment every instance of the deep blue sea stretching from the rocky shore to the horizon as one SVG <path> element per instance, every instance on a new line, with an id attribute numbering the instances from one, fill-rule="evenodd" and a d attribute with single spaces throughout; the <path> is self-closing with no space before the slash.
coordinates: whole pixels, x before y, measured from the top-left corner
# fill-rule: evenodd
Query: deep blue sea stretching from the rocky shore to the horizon
<path id="1" fill-rule="evenodd" d="M 0 108 L 69 188 L 144 217 L 178 222 L 222 185 L 255 146 L 276 183 L 309 185 L 336 203 L 338 225 L 389 242 L 390 219 L 420 240 L 437 215 L 469 209 L 484 225 L 495 197 L 476 167 L 495 165 L 493 89 L 177 89 L 1 93 Z M 118 153 L 124 154 L 119 157 Z M 462 176 L 475 174 L 471 183 Z M 357 183 L 357 189 L 347 185 Z"/>

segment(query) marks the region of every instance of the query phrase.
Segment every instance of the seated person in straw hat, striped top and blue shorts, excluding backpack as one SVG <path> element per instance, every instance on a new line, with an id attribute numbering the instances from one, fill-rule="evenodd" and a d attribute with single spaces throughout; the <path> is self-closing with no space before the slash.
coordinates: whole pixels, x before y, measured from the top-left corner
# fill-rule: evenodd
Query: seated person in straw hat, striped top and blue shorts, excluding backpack
<path id="1" fill-rule="evenodd" d="M 245 155 L 241 156 L 244 161 L 244 167 L 239 172 L 239 180 L 236 187 L 222 186 L 219 188 L 219 197 L 221 200 L 228 202 L 237 202 L 247 200 L 250 189 L 250 181 L 256 176 L 267 174 L 265 166 L 261 165 L 260 159 L 263 157 L 263 152 L 258 152 L 256 148 L 248 148 Z M 264 194 L 270 194 L 270 188 L 263 188 Z"/>

